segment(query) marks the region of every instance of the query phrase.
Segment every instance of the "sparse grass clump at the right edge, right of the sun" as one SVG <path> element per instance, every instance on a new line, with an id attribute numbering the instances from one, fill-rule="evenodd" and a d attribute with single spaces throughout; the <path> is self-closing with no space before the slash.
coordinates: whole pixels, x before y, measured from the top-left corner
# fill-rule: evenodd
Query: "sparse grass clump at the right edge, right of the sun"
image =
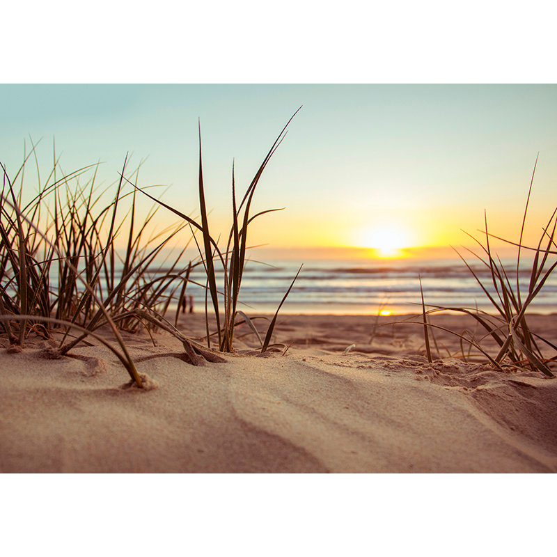
<path id="1" fill-rule="evenodd" d="M 536 164 L 537 162 L 538 160 L 536 159 Z M 430 309 L 426 311 L 426 304 L 423 301 L 422 293 L 422 322 L 427 358 L 430 361 L 432 361 L 432 354 L 430 350 L 430 334 L 428 331 L 430 331 L 430 329 L 433 331 L 435 328 L 443 328 L 428 322 L 427 317 L 439 311 L 455 311 L 471 315 L 480 325 L 480 330 L 483 331 L 483 335 L 480 337 L 471 334 L 469 331 L 466 331 L 466 333 L 463 332 L 463 334 L 457 334 L 461 339 L 462 357 L 466 358 L 464 344 L 468 344 L 475 347 L 478 352 L 483 354 L 483 356 L 496 368 L 503 369 L 503 365 L 507 368 L 508 366 L 516 369 L 530 368 L 531 370 L 542 372 L 547 377 L 554 377 L 554 373 L 549 366 L 551 363 L 556 363 L 557 356 L 547 358 L 544 356 L 542 348 L 549 347 L 552 351 L 557 353 L 557 347 L 548 340 L 542 338 L 542 336 L 531 331 L 527 322 L 528 308 L 557 266 L 557 262 L 551 262 L 549 260 L 549 256 L 557 255 L 557 244 L 555 242 L 557 209 L 551 214 L 547 226 L 542 228 L 538 245 L 524 246 L 523 244 L 524 226 L 531 197 L 534 173 L 532 175 L 530 189 L 528 190 L 528 199 L 522 219 L 519 242 L 510 242 L 489 233 L 487 229 L 487 215 L 485 215 L 485 230 L 480 231 L 485 235 L 485 243 L 471 236 L 473 240 L 478 243 L 483 253 L 480 252 L 480 255 L 478 255 L 471 250 L 469 251 L 487 267 L 491 284 L 483 283 L 478 277 L 478 274 L 474 272 L 471 265 L 469 265 L 457 251 L 466 267 L 468 267 L 471 274 L 476 278 L 485 296 L 489 299 L 494 312 L 487 313 L 485 311 L 479 311 L 478 308 L 454 308 L 430 305 L 427 305 Z M 503 242 L 517 247 L 517 262 L 515 268 L 505 269 L 505 266 L 501 262 L 501 258 L 492 250 L 490 238 L 496 238 L 497 240 L 502 240 Z M 521 289 L 519 284 L 521 253 L 523 250 L 528 250 L 533 253 L 533 262 L 529 271 L 530 280 L 528 281 L 527 290 L 524 290 L 524 288 Z M 516 274 L 516 279 L 512 278 L 512 274 Z M 447 331 L 447 329 L 444 330 Z M 454 331 L 448 332 L 456 334 Z M 496 345 L 499 347 L 499 352 L 497 352 L 497 354 L 489 354 L 487 349 L 483 347 L 486 338 L 491 338 L 495 341 Z"/>

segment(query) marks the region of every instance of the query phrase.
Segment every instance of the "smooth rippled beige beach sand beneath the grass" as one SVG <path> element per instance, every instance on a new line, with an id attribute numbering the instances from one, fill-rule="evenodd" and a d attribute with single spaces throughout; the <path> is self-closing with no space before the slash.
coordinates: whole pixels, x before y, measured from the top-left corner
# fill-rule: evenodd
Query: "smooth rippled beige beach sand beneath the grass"
<path id="1" fill-rule="evenodd" d="M 185 334 L 202 334 L 203 316 L 181 320 Z M 439 322 L 473 327 L 462 316 Z M 284 355 L 228 355 L 200 367 L 186 363 L 166 333 L 155 336 L 156 346 L 124 333 L 149 390 L 129 388 L 116 356 L 96 341 L 58 360 L 42 356 L 40 338 L 19 353 L 0 348 L 0 469 L 557 471 L 557 379 L 448 357 L 458 340 L 441 331 L 443 359 L 428 363 L 418 325 L 379 327 L 371 338 L 374 323 L 374 316 L 281 317 L 276 340 L 290 345 Z M 529 323 L 556 342 L 556 315 Z M 237 336 L 240 350 L 255 345 L 245 325 Z"/>

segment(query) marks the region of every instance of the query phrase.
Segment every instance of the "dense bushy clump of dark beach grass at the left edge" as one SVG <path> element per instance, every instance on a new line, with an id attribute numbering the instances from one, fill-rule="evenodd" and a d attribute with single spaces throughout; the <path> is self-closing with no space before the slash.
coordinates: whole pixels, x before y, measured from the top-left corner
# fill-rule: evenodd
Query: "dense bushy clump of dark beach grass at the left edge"
<path id="1" fill-rule="evenodd" d="M 162 295 L 164 287 L 159 286 L 162 279 L 151 280 L 150 276 L 153 260 L 173 233 L 163 230 L 143 239 L 157 207 L 134 232 L 135 200 L 127 211 L 122 207 L 130 194 L 121 194 L 121 179 L 116 198 L 101 205 L 106 190 L 100 194 L 96 191 L 97 166 L 70 175 L 62 173 L 57 178 L 61 170 L 55 162 L 45 185 L 41 185 L 38 173 L 38 194 L 24 206 L 24 165 L 15 177 L 21 178 L 19 191 L 4 171 L 0 200 L 1 314 L 54 317 L 93 330 L 104 324 L 102 308 L 113 317 L 137 304 L 160 308 L 163 313 L 168 308 L 168 298 Z M 79 177 L 88 170 L 93 170 L 93 178 L 81 185 Z M 123 208 L 125 215 L 118 221 Z M 125 230 L 128 225 L 129 230 Z M 123 234 L 128 239 L 122 254 L 115 241 Z M 164 240 L 160 241 L 160 236 Z M 49 323 L 42 327 L 48 334 Z M 118 320 L 118 327 L 126 328 L 124 320 Z M 9 323 L 6 328 L 10 329 Z M 17 343 L 22 343 L 26 328 L 25 323 L 18 327 Z"/>

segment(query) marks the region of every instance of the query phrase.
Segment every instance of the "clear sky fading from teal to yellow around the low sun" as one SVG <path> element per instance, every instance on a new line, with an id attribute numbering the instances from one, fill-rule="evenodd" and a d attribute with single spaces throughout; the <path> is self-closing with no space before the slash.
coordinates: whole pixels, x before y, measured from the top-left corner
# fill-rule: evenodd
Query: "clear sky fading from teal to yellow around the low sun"
<path id="1" fill-rule="evenodd" d="M 210 226 L 226 236 L 233 161 L 243 196 L 299 107 L 254 196 L 253 214 L 284 208 L 249 230 L 267 254 L 453 254 L 475 245 L 463 230 L 482 239 L 485 214 L 517 242 L 538 153 L 526 244 L 557 207 L 556 84 L 0 84 L 0 162 L 13 176 L 38 143 L 43 183 L 56 152 L 66 173 L 102 162 L 111 185 L 129 156 L 140 187 L 196 217 L 201 125 Z"/>

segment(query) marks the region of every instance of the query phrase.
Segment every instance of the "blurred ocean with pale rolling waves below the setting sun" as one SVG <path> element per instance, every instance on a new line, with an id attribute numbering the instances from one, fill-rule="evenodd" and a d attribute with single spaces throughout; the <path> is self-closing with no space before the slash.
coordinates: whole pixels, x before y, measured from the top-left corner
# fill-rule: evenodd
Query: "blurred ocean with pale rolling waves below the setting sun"
<path id="1" fill-rule="evenodd" d="M 497 299 L 489 269 L 467 260 L 491 295 Z M 476 278 L 460 259 L 438 260 L 278 260 L 272 265 L 248 262 L 242 279 L 239 309 L 248 313 L 274 313 L 304 264 L 281 313 L 377 315 L 421 313 L 420 281 L 426 306 L 478 308 L 495 313 Z M 508 280 L 517 290 L 516 260 L 503 260 Z M 530 265 L 528 267 L 528 265 Z M 549 267 L 549 266 L 548 266 Z M 519 289 L 524 299 L 531 276 L 531 261 L 521 262 Z M 203 272 L 190 277 L 205 283 Z M 188 285 L 196 311 L 204 311 L 205 291 Z M 557 274 L 552 274 L 532 302 L 531 313 L 557 313 Z"/>

